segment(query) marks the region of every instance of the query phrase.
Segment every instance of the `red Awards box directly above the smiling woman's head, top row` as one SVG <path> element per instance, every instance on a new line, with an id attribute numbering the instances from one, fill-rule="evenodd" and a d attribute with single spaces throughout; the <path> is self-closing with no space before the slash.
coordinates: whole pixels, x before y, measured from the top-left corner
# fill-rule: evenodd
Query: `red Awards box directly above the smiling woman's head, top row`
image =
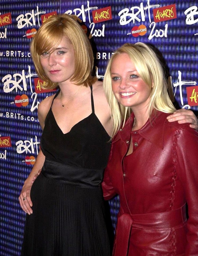
<path id="1" fill-rule="evenodd" d="M 154 22 L 168 21 L 169 19 L 176 18 L 177 13 L 175 4 L 153 9 Z"/>

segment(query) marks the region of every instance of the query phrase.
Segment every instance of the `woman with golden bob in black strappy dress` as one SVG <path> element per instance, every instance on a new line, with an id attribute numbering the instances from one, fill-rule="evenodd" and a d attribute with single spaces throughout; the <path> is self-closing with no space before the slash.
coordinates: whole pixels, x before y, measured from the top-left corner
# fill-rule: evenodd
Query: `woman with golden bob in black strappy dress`
<path id="1" fill-rule="evenodd" d="M 112 122 L 91 75 L 91 44 L 74 18 L 54 15 L 31 53 L 45 88 L 59 88 L 38 106 L 41 150 L 19 197 L 27 213 L 21 256 L 110 256 L 101 182 Z"/>

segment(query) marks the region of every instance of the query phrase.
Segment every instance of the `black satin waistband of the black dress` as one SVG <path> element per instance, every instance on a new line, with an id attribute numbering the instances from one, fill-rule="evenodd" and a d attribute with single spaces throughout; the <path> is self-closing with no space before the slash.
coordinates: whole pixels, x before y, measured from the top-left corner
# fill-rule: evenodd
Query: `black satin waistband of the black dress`
<path id="1" fill-rule="evenodd" d="M 72 186 L 100 187 L 103 170 L 85 169 L 45 159 L 41 173 L 48 179 Z"/>

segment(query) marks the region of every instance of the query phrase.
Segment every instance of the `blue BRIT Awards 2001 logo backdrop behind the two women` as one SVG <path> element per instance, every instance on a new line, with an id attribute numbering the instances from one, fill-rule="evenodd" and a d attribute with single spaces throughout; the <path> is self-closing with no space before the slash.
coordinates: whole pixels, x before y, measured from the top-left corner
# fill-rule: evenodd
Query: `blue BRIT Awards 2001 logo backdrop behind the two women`
<path id="1" fill-rule="evenodd" d="M 18 196 L 37 157 L 38 104 L 54 91 L 42 89 L 29 52 L 38 28 L 56 13 L 76 15 L 94 51 L 102 79 L 123 43 L 157 47 L 167 67 L 169 93 L 182 108 L 198 110 L 198 3 L 180 0 L 1 0 L 0 5 L 0 254 L 20 255 L 25 213 Z M 82 49 L 83 50 L 83 49 Z M 110 201 L 113 226 L 119 198 Z"/>

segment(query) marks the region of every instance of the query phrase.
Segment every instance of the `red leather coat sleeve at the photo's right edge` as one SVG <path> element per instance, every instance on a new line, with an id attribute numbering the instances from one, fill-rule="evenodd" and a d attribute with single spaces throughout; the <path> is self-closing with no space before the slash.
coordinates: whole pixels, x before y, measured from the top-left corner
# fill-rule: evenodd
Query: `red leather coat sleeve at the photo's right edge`
<path id="1" fill-rule="evenodd" d="M 198 132 L 185 128 L 179 129 L 174 136 L 175 161 L 188 204 L 188 242 L 185 256 L 195 256 L 198 255 Z"/>

